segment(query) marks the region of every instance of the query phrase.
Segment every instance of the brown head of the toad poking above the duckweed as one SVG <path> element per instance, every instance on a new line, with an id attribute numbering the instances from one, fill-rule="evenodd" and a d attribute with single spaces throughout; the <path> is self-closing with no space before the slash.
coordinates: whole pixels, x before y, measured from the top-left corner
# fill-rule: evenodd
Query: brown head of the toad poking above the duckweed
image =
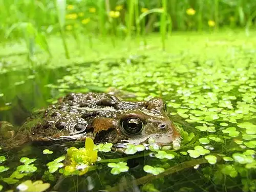
<path id="1" fill-rule="evenodd" d="M 177 127 L 167 116 L 160 98 L 144 102 L 139 109 L 124 111 L 115 118 L 96 117 L 92 123 L 96 141 L 146 143 L 154 138 L 159 145 L 180 140 Z"/>

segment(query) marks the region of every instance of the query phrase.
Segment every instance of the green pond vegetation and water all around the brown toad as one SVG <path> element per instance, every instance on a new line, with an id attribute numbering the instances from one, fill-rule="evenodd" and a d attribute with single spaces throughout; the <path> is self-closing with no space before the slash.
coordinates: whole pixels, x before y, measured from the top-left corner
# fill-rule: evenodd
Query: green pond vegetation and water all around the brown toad
<path id="1" fill-rule="evenodd" d="M 0 191 L 256 190 L 254 1 L 0 5 L 0 121 L 115 89 L 162 97 L 182 135 L 180 146 L 0 148 Z"/>

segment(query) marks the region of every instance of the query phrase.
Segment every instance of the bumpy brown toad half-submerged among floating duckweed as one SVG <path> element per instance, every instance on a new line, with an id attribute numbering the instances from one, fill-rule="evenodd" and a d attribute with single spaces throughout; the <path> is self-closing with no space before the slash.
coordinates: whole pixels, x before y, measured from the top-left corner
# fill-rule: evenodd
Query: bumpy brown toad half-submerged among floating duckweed
<path id="1" fill-rule="evenodd" d="M 148 138 L 154 138 L 160 145 L 180 141 L 180 134 L 166 115 L 166 105 L 160 98 L 130 102 L 106 93 L 71 93 L 41 113 L 39 121 L 29 118 L 4 143 L 15 147 L 29 140 L 83 141 L 86 137 L 95 142 L 133 144 L 146 142 Z"/>

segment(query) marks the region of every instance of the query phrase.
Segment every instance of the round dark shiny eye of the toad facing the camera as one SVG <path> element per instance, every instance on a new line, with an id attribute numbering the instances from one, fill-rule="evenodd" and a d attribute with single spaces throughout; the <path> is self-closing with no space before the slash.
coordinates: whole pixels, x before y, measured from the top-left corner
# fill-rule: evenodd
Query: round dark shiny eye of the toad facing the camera
<path id="1" fill-rule="evenodd" d="M 136 118 L 129 118 L 122 121 L 122 127 L 127 134 L 135 135 L 143 129 L 143 122 Z"/>

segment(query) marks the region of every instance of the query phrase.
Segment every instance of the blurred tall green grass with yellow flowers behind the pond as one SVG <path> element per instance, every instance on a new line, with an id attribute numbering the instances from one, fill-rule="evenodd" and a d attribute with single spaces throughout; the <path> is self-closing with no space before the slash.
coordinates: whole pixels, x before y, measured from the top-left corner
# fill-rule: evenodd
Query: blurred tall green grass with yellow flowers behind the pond
<path id="1" fill-rule="evenodd" d="M 66 42 L 79 35 L 105 40 L 141 37 L 152 32 L 161 35 L 164 50 L 167 35 L 172 31 L 216 31 L 220 28 L 243 28 L 247 35 L 256 22 L 254 0 L 1 0 L 0 40 L 23 38 L 29 57 L 35 45 L 48 52 L 48 37 L 61 36 L 66 57 Z M 92 46 L 91 46 L 92 47 Z"/>

